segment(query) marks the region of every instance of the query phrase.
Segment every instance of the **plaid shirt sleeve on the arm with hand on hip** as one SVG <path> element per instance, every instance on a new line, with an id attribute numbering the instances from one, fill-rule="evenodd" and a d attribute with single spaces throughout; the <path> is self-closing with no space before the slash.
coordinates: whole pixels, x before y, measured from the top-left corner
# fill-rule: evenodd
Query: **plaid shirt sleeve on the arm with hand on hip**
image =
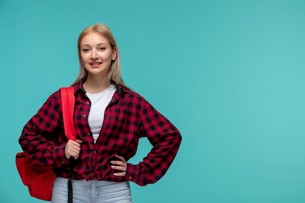
<path id="1" fill-rule="evenodd" d="M 182 138 L 178 129 L 146 100 L 141 113 L 141 137 L 147 137 L 153 147 L 139 164 L 127 164 L 125 178 L 144 186 L 164 176 L 178 152 Z"/>

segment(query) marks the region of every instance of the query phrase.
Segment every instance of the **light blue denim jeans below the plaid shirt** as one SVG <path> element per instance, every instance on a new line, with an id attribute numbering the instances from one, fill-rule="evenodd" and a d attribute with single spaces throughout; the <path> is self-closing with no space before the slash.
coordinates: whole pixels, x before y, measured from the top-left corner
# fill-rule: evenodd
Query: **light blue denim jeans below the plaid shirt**
<path id="1" fill-rule="evenodd" d="M 68 179 L 56 177 L 51 203 L 68 202 Z M 73 203 L 132 203 L 129 181 L 72 180 Z"/>

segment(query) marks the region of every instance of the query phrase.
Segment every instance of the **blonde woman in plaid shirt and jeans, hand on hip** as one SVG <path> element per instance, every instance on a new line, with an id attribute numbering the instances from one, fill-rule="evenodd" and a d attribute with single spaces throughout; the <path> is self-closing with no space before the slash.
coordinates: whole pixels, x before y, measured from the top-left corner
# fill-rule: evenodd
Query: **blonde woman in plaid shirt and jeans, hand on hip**
<path id="1" fill-rule="evenodd" d="M 89 26 L 78 37 L 79 74 L 75 92 L 76 141 L 64 135 L 60 92 L 53 93 L 22 130 L 25 154 L 53 166 L 52 203 L 67 202 L 71 167 L 74 203 L 131 203 L 129 181 L 158 181 L 168 170 L 181 143 L 172 123 L 121 78 L 120 57 L 111 31 Z M 137 165 L 128 163 L 139 138 L 152 150 Z"/>

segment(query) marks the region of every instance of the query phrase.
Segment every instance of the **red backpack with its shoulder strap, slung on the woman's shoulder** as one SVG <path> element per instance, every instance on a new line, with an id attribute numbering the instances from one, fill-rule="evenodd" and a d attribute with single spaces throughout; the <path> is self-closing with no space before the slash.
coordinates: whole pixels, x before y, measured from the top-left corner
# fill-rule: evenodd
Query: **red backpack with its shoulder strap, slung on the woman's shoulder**
<path id="1" fill-rule="evenodd" d="M 76 132 L 73 124 L 75 103 L 74 88 L 60 88 L 60 95 L 65 135 L 68 140 L 76 141 Z M 56 177 L 53 173 L 53 167 L 38 164 L 31 158 L 25 156 L 24 152 L 17 153 L 16 166 L 22 183 L 28 186 L 30 195 L 40 200 L 51 201 L 53 181 Z M 68 193 L 70 193 L 68 194 L 69 202 L 72 201 L 72 185 Z"/>

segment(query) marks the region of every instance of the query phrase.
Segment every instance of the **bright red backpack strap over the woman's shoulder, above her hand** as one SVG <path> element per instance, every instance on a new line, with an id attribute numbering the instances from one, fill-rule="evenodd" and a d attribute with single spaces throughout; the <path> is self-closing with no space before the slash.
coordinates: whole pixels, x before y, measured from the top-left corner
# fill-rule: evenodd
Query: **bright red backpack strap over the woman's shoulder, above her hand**
<path id="1" fill-rule="evenodd" d="M 68 140 L 76 141 L 76 132 L 73 124 L 73 111 L 75 103 L 74 88 L 60 88 L 60 96 L 65 135 Z"/>

